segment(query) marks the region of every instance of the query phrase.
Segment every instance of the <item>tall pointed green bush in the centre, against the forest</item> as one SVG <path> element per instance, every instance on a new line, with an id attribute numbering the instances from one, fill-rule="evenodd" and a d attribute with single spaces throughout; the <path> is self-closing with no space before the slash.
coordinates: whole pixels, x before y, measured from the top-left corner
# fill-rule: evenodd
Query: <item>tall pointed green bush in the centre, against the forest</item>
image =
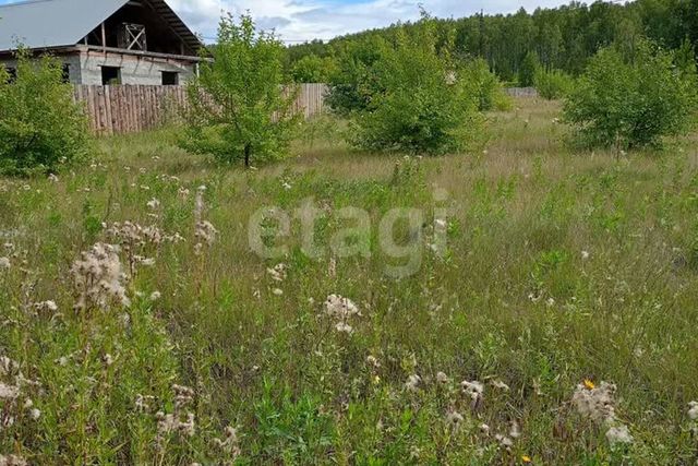
<path id="1" fill-rule="evenodd" d="M 362 148 L 442 154 L 462 151 L 480 121 L 474 99 L 448 58 L 436 53 L 431 20 L 397 33 L 373 67 L 375 87 L 354 112 L 351 142 Z"/>

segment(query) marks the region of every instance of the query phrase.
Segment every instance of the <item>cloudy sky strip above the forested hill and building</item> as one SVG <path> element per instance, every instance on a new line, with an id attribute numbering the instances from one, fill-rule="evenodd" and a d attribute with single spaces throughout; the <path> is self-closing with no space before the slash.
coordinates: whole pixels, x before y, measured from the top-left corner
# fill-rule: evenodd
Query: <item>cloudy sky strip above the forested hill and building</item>
<path id="1" fill-rule="evenodd" d="M 0 4 L 15 0 L 0 0 Z M 96 0 L 98 1 L 98 0 Z M 189 26 L 208 40 L 216 35 L 221 11 L 249 10 L 263 28 L 275 28 L 287 43 L 328 39 L 419 16 L 419 4 L 440 17 L 509 13 L 520 7 L 555 7 L 564 0 L 168 0 Z"/>

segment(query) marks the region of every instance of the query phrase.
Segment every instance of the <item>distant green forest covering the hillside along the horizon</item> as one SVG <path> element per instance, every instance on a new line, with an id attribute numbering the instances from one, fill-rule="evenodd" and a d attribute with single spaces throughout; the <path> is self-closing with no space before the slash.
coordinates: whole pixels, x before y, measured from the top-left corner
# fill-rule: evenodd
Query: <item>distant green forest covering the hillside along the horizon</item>
<path id="1" fill-rule="evenodd" d="M 601 47 L 621 43 L 626 47 L 648 37 L 662 47 L 676 49 L 685 40 L 698 48 L 698 0 L 637 0 L 617 4 L 597 1 L 590 5 L 571 2 L 555 9 L 520 9 L 515 14 L 437 19 L 438 34 L 450 44 L 452 53 L 464 60 L 482 58 L 505 82 L 519 81 L 527 61 L 546 70 L 578 75 L 587 60 Z M 292 45 L 287 48 L 286 70 L 296 81 L 326 81 L 335 58 L 356 44 L 392 40 L 398 27 L 421 27 L 420 23 L 394 24 L 334 38 L 327 43 Z"/>

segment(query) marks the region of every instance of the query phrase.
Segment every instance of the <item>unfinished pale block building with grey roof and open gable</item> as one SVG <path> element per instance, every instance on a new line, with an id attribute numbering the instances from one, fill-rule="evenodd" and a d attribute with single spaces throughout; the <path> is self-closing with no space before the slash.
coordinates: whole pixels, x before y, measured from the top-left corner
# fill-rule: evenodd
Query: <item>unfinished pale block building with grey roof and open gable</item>
<path id="1" fill-rule="evenodd" d="M 202 41 L 164 0 L 32 0 L 0 5 L 0 64 L 17 47 L 50 53 L 73 84 L 178 85 Z"/>

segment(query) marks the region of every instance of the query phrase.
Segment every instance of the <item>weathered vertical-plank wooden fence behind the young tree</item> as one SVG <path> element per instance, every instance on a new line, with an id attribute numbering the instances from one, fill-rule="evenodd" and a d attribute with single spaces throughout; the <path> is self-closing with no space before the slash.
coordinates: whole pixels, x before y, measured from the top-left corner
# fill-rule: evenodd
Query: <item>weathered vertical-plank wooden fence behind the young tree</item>
<path id="1" fill-rule="evenodd" d="M 294 110 L 309 118 L 324 111 L 325 84 L 301 84 Z M 85 105 L 96 134 L 124 134 L 159 128 L 186 104 L 183 86 L 76 85 L 75 100 Z"/>

